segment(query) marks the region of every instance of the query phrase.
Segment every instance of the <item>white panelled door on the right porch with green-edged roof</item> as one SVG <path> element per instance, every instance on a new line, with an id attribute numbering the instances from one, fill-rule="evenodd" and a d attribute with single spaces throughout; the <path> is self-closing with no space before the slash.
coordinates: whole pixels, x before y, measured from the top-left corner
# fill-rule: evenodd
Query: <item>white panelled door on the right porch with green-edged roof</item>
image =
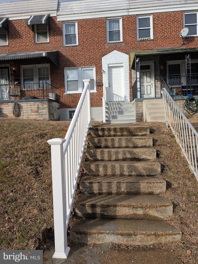
<path id="1" fill-rule="evenodd" d="M 154 65 L 140 65 L 141 98 L 155 97 Z"/>

